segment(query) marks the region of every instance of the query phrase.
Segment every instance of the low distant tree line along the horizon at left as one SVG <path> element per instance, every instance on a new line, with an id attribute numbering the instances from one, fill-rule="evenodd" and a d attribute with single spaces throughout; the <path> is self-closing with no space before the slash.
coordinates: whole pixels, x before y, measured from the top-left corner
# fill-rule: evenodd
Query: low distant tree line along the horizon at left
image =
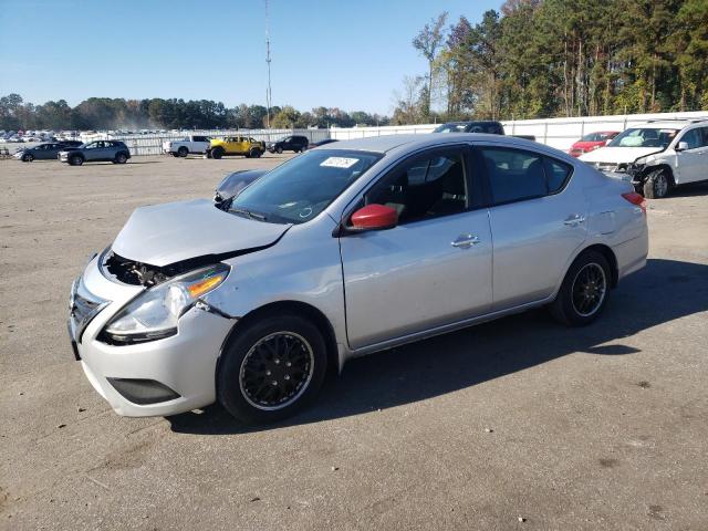
<path id="1" fill-rule="evenodd" d="M 268 110 L 241 104 L 229 108 L 210 100 L 123 100 L 90 97 L 71 107 L 66 101 L 42 105 L 24 102 L 19 94 L 0 97 L 0 129 L 140 129 L 140 128 L 273 128 L 353 127 L 386 125 L 388 118 L 363 111 L 347 113 L 337 107 L 315 107 L 303 112 L 290 105 Z"/>

